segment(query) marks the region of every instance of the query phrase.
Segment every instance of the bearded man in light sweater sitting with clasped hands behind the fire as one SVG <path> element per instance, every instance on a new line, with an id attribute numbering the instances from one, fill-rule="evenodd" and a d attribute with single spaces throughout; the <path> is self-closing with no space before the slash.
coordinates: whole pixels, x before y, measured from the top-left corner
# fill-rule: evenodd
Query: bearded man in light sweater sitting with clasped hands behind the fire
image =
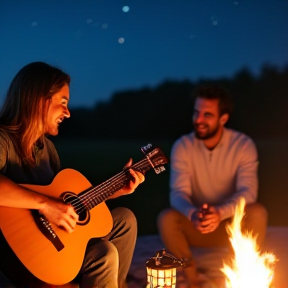
<path id="1" fill-rule="evenodd" d="M 256 203 L 258 156 L 247 135 L 228 129 L 233 103 L 218 85 L 196 90 L 194 132 L 183 135 L 171 150 L 170 205 L 157 225 L 168 251 L 185 259 L 190 287 L 199 287 L 191 247 L 230 246 L 226 224 L 241 197 L 245 199 L 243 231 L 263 243 L 267 211 Z"/>

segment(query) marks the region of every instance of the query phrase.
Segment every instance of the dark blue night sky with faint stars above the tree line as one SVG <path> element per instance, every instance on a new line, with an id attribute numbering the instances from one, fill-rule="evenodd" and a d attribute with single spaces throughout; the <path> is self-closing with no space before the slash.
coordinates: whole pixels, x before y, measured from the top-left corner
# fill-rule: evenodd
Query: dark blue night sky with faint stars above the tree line
<path id="1" fill-rule="evenodd" d="M 0 100 L 32 61 L 71 75 L 70 107 L 167 79 L 282 68 L 287 27 L 287 0 L 0 0 Z"/>

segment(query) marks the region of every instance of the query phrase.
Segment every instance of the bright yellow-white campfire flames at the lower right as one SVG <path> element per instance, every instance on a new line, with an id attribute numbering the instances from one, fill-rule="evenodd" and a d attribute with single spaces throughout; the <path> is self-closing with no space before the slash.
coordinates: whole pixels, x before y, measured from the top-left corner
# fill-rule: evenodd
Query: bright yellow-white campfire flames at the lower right
<path id="1" fill-rule="evenodd" d="M 273 280 L 276 258 L 271 253 L 260 253 L 256 237 L 241 232 L 245 200 L 236 206 L 235 216 L 226 227 L 234 249 L 231 264 L 224 264 L 221 271 L 226 276 L 225 288 L 269 288 Z"/>

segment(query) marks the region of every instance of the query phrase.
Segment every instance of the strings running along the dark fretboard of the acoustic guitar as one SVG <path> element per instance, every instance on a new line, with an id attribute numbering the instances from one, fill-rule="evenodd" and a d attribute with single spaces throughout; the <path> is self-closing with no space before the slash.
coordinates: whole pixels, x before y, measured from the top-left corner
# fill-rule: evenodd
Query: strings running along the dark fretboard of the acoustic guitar
<path id="1" fill-rule="evenodd" d="M 151 165 L 147 159 L 143 159 L 141 160 L 140 162 L 132 165 L 131 167 L 129 168 L 136 168 L 135 170 L 139 169 L 139 168 L 143 168 L 147 165 L 143 165 L 143 164 L 146 164 L 145 162 L 147 162 L 149 165 Z M 128 168 L 128 169 L 129 169 Z M 87 208 L 91 209 L 95 206 L 95 203 L 94 201 L 92 201 L 92 207 L 90 207 L 91 205 L 91 199 L 93 200 L 95 197 L 98 197 L 100 198 L 101 202 L 104 201 L 107 197 L 105 197 L 104 195 L 104 199 L 101 199 L 101 196 L 103 196 L 103 194 L 107 194 L 107 191 L 110 190 L 111 188 L 111 182 L 112 184 L 114 184 L 114 187 L 117 186 L 117 185 L 122 185 L 125 181 L 127 180 L 127 170 L 123 170 L 121 171 L 120 173 L 116 174 L 115 176 L 113 176 L 112 178 L 106 180 L 105 182 L 101 183 L 100 185 L 97 185 L 93 188 L 91 188 L 91 190 L 87 191 L 87 194 L 85 194 L 83 197 L 79 197 L 82 201 L 79 200 L 79 198 L 76 198 L 74 200 L 71 201 L 71 204 L 74 206 L 75 208 L 75 211 L 77 213 L 81 213 L 82 211 L 84 211 L 86 209 L 86 206 L 83 205 L 83 202 L 84 204 L 88 203 L 87 205 Z M 124 186 L 124 185 L 123 185 Z M 122 187 L 123 187 L 122 186 Z M 120 188 L 121 189 L 121 188 Z M 116 190 L 117 191 L 117 190 Z M 116 192 L 115 191 L 115 192 Z M 97 195 L 98 194 L 98 195 Z M 111 193 L 110 195 L 112 195 L 113 193 Z M 97 195 L 97 196 L 96 196 Z M 108 194 L 108 196 L 110 196 Z M 72 197 L 72 196 L 71 196 Z M 98 199 L 99 200 L 99 199 Z M 100 203 L 100 202 L 99 202 Z M 99 204 L 99 203 L 96 203 Z M 80 208 L 80 210 L 79 210 Z"/>

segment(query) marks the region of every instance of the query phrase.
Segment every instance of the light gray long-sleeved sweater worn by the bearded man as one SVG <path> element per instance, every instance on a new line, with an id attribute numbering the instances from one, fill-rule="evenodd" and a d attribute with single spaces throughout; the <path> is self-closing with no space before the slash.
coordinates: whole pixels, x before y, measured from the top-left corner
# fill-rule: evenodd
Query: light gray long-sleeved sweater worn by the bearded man
<path id="1" fill-rule="evenodd" d="M 219 208 L 221 220 L 234 215 L 242 196 L 247 204 L 257 199 L 258 156 L 247 135 L 224 128 L 213 150 L 190 133 L 171 151 L 170 204 L 189 219 L 203 203 Z"/>

